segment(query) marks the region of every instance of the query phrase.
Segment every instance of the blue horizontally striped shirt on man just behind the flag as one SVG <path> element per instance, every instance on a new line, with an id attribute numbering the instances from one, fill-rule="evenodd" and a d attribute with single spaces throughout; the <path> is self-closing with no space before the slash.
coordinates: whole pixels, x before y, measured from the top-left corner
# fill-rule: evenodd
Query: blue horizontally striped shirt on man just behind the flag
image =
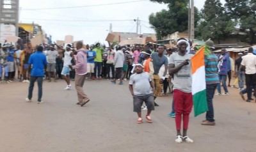
<path id="1" fill-rule="evenodd" d="M 205 56 L 205 81 L 206 84 L 220 83 L 218 75 L 218 57 L 214 54 Z"/>

